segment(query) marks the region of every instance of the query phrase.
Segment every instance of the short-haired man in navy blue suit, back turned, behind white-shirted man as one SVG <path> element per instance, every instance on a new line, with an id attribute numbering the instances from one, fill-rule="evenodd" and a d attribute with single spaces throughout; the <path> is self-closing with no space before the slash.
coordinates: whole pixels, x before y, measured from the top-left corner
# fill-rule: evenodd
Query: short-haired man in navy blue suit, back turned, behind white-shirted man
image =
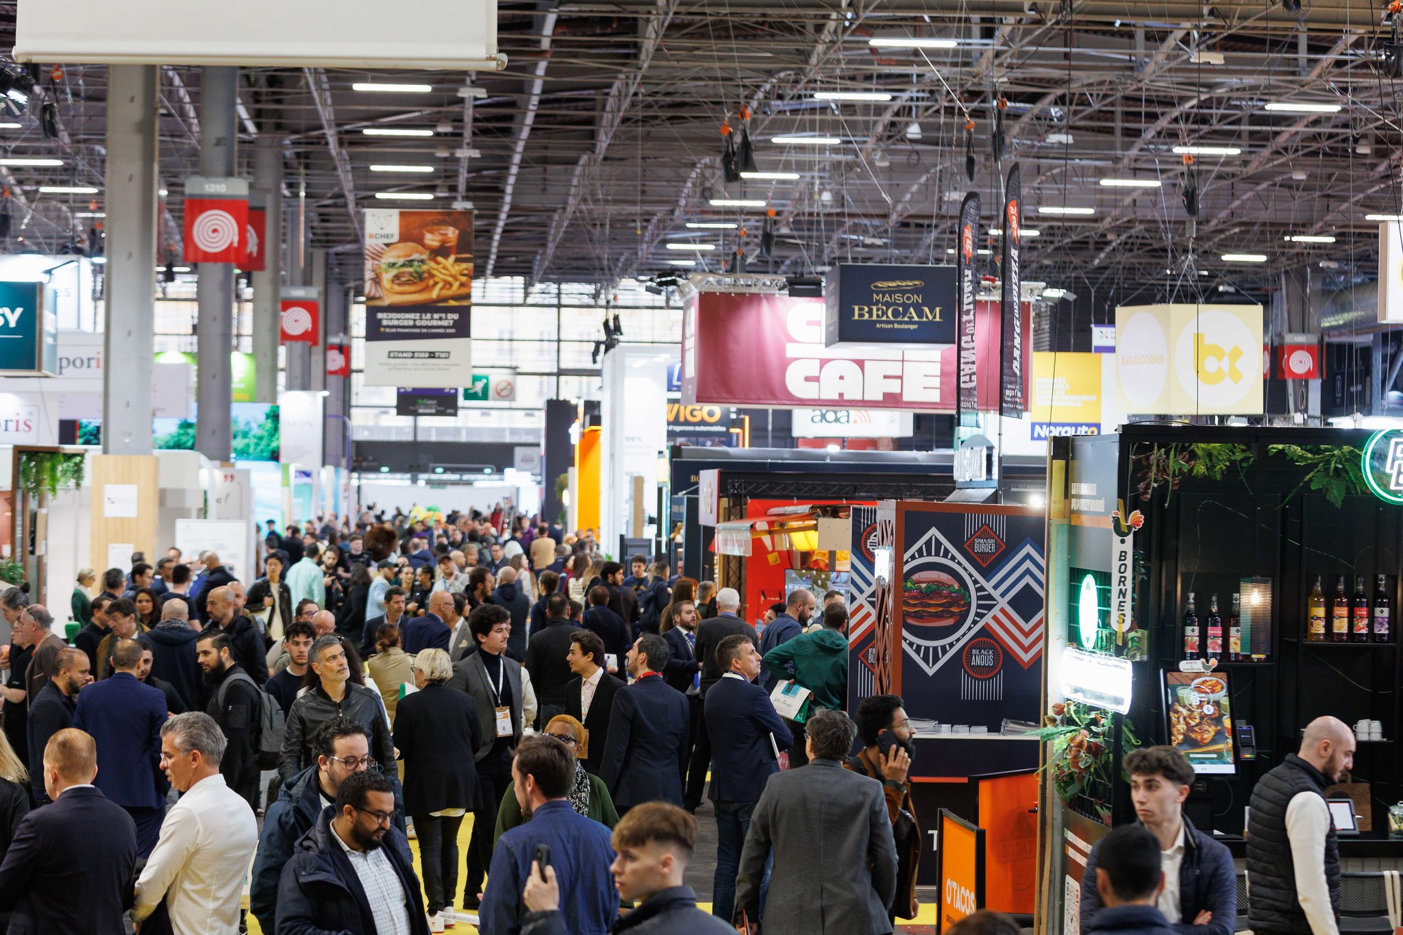
<path id="1" fill-rule="evenodd" d="M 166 694 L 137 680 L 146 646 L 119 639 L 112 676 L 79 694 L 73 726 L 97 744 L 97 788 L 136 823 L 136 854 L 147 858 L 166 816 L 170 784 L 160 767 Z"/>

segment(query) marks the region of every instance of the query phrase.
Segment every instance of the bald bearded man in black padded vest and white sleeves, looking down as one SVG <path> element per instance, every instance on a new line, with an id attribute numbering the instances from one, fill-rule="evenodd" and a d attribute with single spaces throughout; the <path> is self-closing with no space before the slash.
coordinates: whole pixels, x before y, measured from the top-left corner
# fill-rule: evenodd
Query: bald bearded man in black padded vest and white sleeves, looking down
<path id="1" fill-rule="evenodd" d="M 1352 767 L 1354 732 L 1337 718 L 1316 718 L 1299 753 L 1257 781 L 1246 835 L 1251 931 L 1340 931 L 1340 845 L 1324 791 Z"/>

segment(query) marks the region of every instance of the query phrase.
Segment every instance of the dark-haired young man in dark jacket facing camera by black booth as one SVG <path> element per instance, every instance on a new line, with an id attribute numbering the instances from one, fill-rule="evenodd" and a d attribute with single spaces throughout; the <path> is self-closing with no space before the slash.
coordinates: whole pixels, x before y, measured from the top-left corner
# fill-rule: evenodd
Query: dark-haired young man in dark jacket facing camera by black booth
<path id="1" fill-rule="evenodd" d="M 1135 816 L 1157 840 L 1164 889 L 1159 911 L 1180 935 L 1232 935 L 1237 925 L 1237 880 L 1226 845 L 1184 814 L 1194 768 L 1173 747 L 1145 747 L 1125 756 Z M 1082 931 L 1103 903 L 1096 885 L 1101 845 L 1092 848 L 1082 875 Z"/>

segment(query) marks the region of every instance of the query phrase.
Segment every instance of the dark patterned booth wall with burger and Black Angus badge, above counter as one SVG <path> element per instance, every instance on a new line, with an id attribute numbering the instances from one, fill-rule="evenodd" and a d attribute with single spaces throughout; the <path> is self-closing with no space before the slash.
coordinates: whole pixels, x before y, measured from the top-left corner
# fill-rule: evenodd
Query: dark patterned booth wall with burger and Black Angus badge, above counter
<path id="1" fill-rule="evenodd" d="M 916 757 L 920 775 L 1037 765 L 1037 743 L 979 737 L 1041 716 L 1042 540 L 1042 513 L 1030 507 L 897 505 L 891 691 L 905 698 L 918 744 L 957 735 L 978 744 Z"/>

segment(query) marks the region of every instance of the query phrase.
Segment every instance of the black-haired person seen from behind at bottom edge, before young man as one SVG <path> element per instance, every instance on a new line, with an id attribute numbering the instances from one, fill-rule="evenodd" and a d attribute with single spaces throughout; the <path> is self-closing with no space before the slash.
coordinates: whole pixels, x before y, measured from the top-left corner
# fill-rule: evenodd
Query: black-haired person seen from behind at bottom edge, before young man
<path id="1" fill-rule="evenodd" d="M 1085 873 L 1096 883 L 1103 908 L 1083 931 L 1117 935 L 1173 935 L 1174 928 L 1155 908 L 1164 890 L 1159 841 L 1143 824 L 1122 824 L 1097 841 L 1101 865 Z M 1085 908 L 1085 907 L 1083 907 Z"/>

